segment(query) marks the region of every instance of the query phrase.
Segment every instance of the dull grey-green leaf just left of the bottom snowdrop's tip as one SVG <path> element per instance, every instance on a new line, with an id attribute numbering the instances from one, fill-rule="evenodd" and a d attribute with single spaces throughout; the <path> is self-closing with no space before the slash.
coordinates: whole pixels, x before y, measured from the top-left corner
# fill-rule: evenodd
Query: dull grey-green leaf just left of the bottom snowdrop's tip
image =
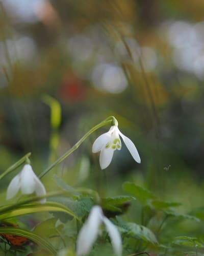
<path id="1" fill-rule="evenodd" d="M 87 213 L 90 211 L 90 209 L 93 206 L 93 200 L 91 198 L 82 197 L 79 200 L 72 200 L 67 197 L 53 197 L 50 200 L 58 202 L 65 207 L 68 207 L 71 209 L 73 214 L 77 216 L 77 218 L 83 218 Z M 64 214 L 60 213 L 54 213 L 54 216 L 56 218 L 60 218 L 62 222 L 66 222 L 67 220 L 71 220 L 73 216 L 65 216 Z"/>

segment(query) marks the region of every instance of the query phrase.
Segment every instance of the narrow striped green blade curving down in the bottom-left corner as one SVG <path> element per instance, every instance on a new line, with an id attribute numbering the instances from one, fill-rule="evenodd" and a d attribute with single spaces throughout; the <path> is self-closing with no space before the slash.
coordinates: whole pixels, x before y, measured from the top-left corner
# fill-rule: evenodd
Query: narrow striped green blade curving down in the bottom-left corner
<path id="1" fill-rule="evenodd" d="M 16 236 L 19 236 L 19 237 L 28 238 L 28 239 L 34 241 L 35 243 L 37 243 L 43 249 L 49 251 L 49 253 L 51 253 L 53 255 L 57 255 L 57 251 L 56 251 L 55 247 L 53 247 L 52 244 L 50 244 L 49 242 L 47 242 L 45 239 L 38 236 L 37 234 L 34 234 L 33 232 L 23 230 L 21 228 L 0 227 L 0 233 L 15 234 Z"/>

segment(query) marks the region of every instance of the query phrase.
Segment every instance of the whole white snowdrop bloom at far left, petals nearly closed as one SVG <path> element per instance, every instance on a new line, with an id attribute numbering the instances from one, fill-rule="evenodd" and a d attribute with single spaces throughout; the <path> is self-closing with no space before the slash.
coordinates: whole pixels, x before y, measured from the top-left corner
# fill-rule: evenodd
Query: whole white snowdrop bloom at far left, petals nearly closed
<path id="1" fill-rule="evenodd" d="M 44 185 L 35 175 L 30 164 L 25 164 L 21 172 L 11 180 L 7 189 L 7 199 L 13 198 L 19 189 L 24 195 L 33 194 L 34 192 L 37 196 L 46 195 Z M 45 203 L 46 198 L 41 199 L 40 202 Z"/>

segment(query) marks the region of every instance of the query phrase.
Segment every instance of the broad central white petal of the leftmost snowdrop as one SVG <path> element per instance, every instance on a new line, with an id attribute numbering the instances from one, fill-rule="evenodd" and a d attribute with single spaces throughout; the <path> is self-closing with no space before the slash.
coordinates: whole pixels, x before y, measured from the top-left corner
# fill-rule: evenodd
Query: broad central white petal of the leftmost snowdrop
<path id="1" fill-rule="evenodd" d="M 22 194 L 29 195 L 35 191 L 34 172 L 30 164 L 25 164 L 20 173 L 20 189 Z"/>

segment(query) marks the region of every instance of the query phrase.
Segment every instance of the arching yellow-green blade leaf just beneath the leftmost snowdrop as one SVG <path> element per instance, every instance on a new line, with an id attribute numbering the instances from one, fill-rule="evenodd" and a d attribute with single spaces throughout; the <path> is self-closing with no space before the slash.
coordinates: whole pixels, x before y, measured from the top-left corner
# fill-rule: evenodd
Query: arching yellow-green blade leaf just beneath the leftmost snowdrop
<path id="1" fill-rule="evenodd" d="M 0 220 L 9 219 L 24 214 L 33 214 L 41 211 L 62 211 L 73 218 L 79 219 L 78 216 L 75 215 L 74 212 L 72 212 L 68 207 L 56 202 L 46 202 L 45 204 L 41 204 L 39 202 L 23 205 L 14 204 L 14 207 L 15 208 L 13 208 L 12 205 L 8 206 L 8 210 L 6 207 L 4 207 L 4 212 L 0 214 Z"/>

